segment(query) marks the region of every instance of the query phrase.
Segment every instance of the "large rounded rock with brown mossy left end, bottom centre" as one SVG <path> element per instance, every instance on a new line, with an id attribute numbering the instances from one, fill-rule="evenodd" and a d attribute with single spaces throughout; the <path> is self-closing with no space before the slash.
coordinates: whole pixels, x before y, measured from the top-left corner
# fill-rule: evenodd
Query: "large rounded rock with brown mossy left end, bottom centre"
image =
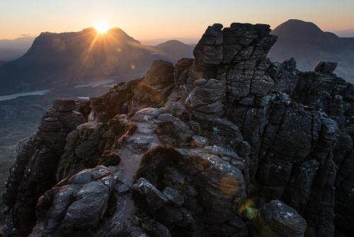
<path id="1" fill-rule="evenodd" d="M 142 159 L 137 177 L 144 177 L 152 184 L 164 187 L 164 194 L 167 199 L 172 199 L 173 206 L 164 204 L 156 212 L 159 216 L 157 220 L 165 226 L 180 226 L 180 233 L 187 233 L 188 228 L 202 223 L 207 224 L 205 236 L 226 231 L 219 224 L 234 218 L 233 210 L 239 208 L 245 197 L 241 172 L 205 150 L 177 151 L 161 147 L 149 150 Z M 188 196 L 185 196 L 187 193 Z M 137 202 L 141 203 L 139 199 Z M 232 233 L 239 231 L 232 227 L 228 230 Z M 193 228 L 193 233 L 197 234 L 198 230 Z"/>

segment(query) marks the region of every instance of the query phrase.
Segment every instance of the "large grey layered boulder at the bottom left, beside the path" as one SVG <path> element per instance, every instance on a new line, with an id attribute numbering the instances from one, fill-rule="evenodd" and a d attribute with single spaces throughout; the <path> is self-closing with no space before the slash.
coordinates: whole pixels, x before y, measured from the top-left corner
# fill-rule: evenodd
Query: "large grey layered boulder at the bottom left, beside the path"
<path id="1" fill-rule="evenodd" d="M 57 184 L 40 197 L 38 223 L 30 236 L 84 234 L 96 228 L 108 207 L 114 183 L 113 173 L 98 166 Z"/>

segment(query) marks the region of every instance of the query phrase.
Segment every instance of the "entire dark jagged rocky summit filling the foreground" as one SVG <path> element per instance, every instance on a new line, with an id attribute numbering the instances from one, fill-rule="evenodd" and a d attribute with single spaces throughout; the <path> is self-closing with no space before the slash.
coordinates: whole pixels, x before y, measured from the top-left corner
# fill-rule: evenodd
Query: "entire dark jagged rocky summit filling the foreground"
<path id="1" fill-rule="evenodd" d="M 268 25 L 209 26 L 176 65 L 57 99 L 18 144 L 4 236 L 351 236 L 354 87 L 270 62 Z"/>

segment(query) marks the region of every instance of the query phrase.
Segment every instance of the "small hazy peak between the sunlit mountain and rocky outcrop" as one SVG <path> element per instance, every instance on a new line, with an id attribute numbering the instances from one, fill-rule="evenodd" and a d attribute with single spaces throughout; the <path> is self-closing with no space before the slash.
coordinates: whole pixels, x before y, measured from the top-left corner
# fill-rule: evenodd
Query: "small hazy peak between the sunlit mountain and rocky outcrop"
<path id="1" fill-rule="evenodd" d="M 155 46 L 158 52 L 165 57 L 169 57 L 173 62 L 182 57 L 193 57 L 194 45 L 186 45 L 178 40 L 169 40 Z"/>

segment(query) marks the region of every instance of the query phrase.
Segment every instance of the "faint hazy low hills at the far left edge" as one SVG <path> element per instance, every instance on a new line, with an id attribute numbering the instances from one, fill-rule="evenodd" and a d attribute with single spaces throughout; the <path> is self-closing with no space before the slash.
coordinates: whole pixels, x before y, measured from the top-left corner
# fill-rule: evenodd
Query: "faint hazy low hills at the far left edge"
<path id="1" fill-rule="evenodd" d="M 0 61 L 21 57 L 32 45 L 34 37 L 24 36 L 14 40 L 0 40 Z"/>

